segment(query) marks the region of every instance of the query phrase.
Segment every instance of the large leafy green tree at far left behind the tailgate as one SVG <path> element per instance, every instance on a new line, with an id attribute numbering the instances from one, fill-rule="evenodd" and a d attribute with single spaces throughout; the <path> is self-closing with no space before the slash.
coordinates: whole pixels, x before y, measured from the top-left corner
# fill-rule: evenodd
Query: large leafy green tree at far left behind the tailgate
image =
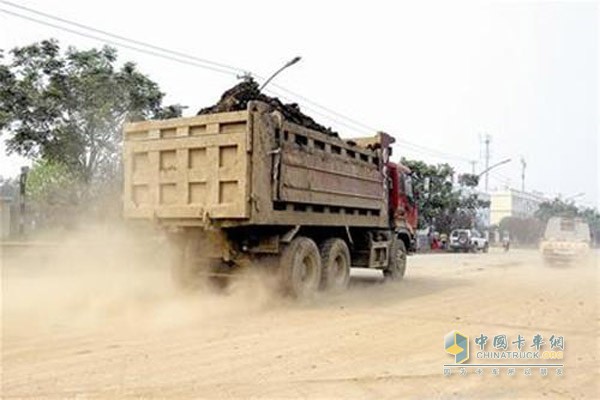
<path id="1" fill-rule="evenodd" d="M 161 106 L 164 94 L 135 64 L 118 66 L 114 48 L 63 52 L 44 40 L 10 55 L 0 60 L 7 151 L 61 165 L 84 184 L 118 174 L 125 121 L 181 114 L 178 105 Z"/>

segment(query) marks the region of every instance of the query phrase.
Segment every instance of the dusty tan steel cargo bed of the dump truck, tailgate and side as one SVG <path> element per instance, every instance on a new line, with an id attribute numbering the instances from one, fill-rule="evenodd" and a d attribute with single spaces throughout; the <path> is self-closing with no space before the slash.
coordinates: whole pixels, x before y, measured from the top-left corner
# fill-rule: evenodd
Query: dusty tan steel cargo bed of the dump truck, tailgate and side
<path id="1" fill-rule="evenodd" d="M 251 111 L 125 127 L 125 216 L 180 226 L 385 227 L 379 154 Z"/>

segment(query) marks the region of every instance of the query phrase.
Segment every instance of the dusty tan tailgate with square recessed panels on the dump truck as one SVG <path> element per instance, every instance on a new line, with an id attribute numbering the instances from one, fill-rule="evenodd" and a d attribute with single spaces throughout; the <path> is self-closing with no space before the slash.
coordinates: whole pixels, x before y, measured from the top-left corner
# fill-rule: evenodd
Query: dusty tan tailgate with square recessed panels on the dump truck
<path id="1" fill-rule="evenodd" d="M 248 218 L 248 112 L 125 127 L 125 216 Z"/>

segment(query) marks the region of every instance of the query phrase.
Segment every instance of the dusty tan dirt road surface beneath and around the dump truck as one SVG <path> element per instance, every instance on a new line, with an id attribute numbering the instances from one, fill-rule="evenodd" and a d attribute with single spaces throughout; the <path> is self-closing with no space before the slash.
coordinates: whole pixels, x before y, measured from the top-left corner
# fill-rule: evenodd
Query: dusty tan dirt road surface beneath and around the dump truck
<path id="1" fill-rule="evenodd" d="M 403 282 L 293 302 L 258 274 L 178 294 L 159 242 L 108 236 L 5 248 L 2 398 L 600 398 L 597 262 L 417 255 Z M 444 376 L 454 329 L 563 335 L 564 374 Z"/>

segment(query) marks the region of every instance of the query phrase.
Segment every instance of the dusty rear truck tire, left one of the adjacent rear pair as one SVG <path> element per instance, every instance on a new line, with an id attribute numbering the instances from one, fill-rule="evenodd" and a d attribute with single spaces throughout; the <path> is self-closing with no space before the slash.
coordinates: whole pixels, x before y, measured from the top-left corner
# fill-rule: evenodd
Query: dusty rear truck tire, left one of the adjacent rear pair
<path id="1" fill-rule="evenodd" d="M 293 297 L 310 297 L 321 282 L 322 266 L 319 248 L 307 237 L 299 236 L 281 254 L 279 267 L 283 289 Z"/>

